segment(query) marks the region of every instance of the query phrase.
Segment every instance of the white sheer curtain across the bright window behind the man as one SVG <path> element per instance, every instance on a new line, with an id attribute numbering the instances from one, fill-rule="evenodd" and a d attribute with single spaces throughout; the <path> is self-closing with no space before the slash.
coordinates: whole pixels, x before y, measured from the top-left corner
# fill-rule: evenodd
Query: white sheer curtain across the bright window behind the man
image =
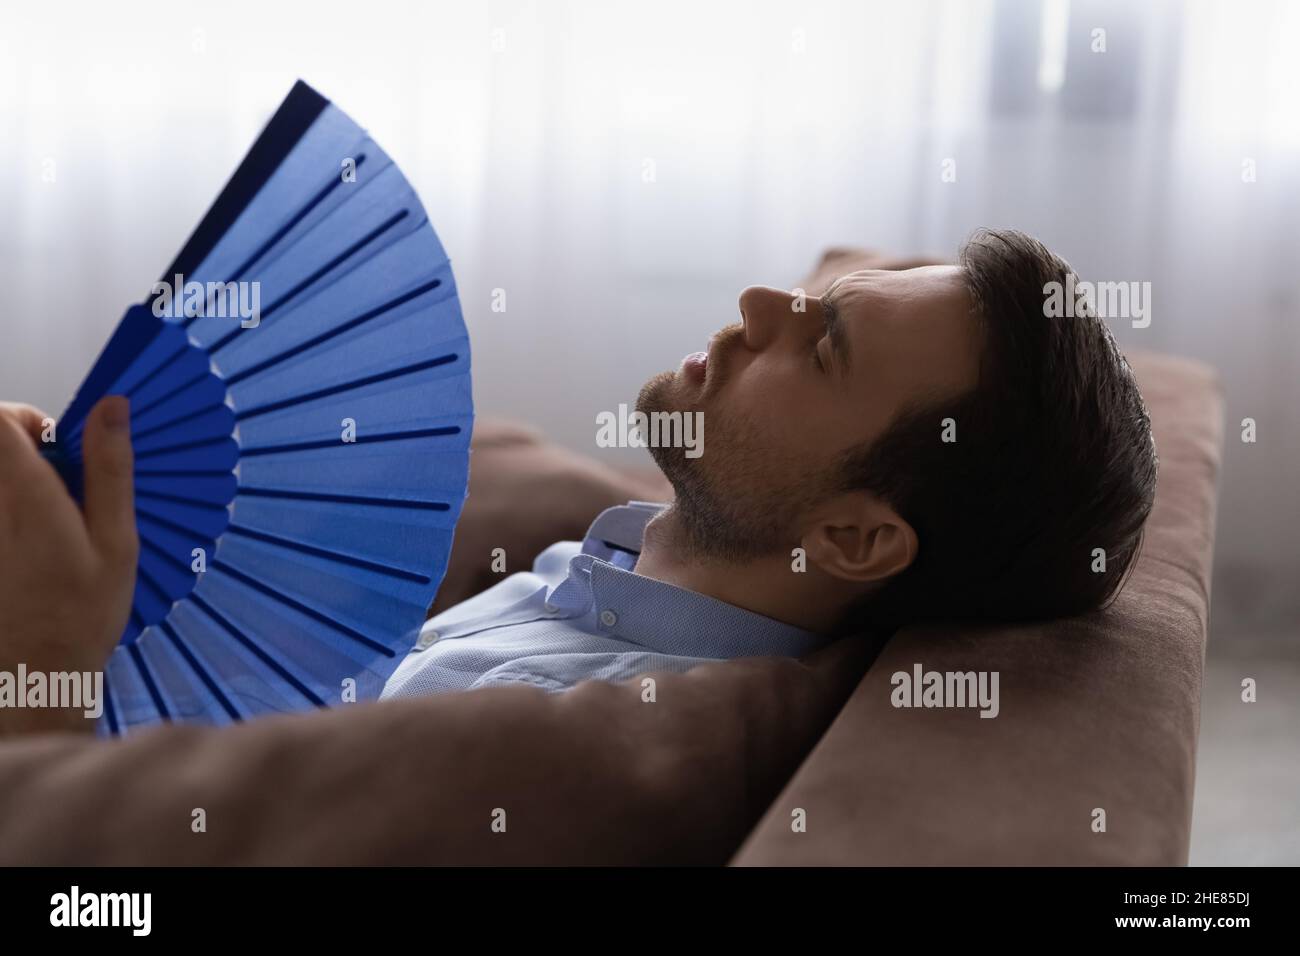
<path id="1" fill-rule="evenodd" d="M 1300 619 L 1297 10 L 5 4 L 0 394 L 62 407 L 303 77 L 420 190 L 480 408 L 593 454 L 640 454 L 597 449 L 595 412 L 832 243 L 950 255 L 1014 225 L 1086 278 L 1150 281 L 1152 325 L 1121 341 L 1227 386 L 1218 610 Z"/>

